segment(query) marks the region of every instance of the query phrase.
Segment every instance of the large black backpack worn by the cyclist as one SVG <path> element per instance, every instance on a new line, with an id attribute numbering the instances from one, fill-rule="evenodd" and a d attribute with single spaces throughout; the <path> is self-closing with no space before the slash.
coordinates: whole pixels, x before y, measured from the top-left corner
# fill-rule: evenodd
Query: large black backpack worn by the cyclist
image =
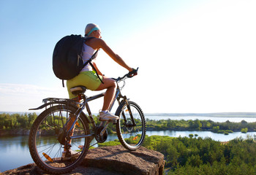
<path id="1" fill-rule="evenodd" d="M 64 79 L 72 79 L 77 76 L 87 63 L 92 66 L 91 60 L 97 57 L 98 50 L 86 63 L 83 63 L 82 59 L 83 43 L 91 38 L 85 39 L 81 35 L 64 36 L 54 47 L 53 72 L 56 77 L 62 79 L 63 87 Z M 94 66 L 92 67 L 96 71 Z"/>

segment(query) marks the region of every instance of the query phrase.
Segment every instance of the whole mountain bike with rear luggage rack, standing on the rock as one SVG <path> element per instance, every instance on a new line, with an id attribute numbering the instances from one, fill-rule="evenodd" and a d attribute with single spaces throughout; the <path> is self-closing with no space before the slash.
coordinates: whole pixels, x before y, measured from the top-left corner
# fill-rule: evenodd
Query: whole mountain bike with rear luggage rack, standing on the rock
<path id="1" fill-rule="evenodd" d="M 124 88 L 125 79 L 128 77 L 129 74 L 125 74 L 115 79 L 117 84 L 124 82 L 123 86 L 117 85 L 115 100 L 109 109 L 111 111 L 115 101 L 118 101 L 115 114 L 119 119 L 115 121 L 100 121 L 99 125 L 96 125 L 88 102 L 103 97 L 105 93 L 87 97 L 84 86 L 70 89 L 73 94 L 78 95 L 79 101 L 45 98 L 45 104 L 30 109 L 45 108 L 34 121 L 29 134 L 29 151 L 37 166 L 50 174 L 72 171 L 86 157 L 89 147 L 94 146 L 91 144 L 94 138 L 97 143 L 106 141 L 109 123 L 116 124 L 118 140 L 126 149 L 138 149 L 146 136 L 146 121 L 140 106 L 121 95 L 121 89 Z M 87 115 L 83 109 L 86 109 Z M 75 150 L 75 156 L 72 155 L 71 148 Z M 62 158 L 63 155 L 65 159 Z"/>

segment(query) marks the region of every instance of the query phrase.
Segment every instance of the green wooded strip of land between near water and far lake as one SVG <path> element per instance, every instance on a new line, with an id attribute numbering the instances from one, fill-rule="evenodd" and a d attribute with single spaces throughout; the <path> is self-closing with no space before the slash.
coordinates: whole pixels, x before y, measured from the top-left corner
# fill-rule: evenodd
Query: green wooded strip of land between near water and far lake
<path id="1" fill-rule="evenodd" d="M 0 129 L 29 129 L 37 118 L 36 113 L 25 114 L 0 114 Z M 96 123 L 98 120 L 94 116 Z M 226 121 L 225 123 L 215 123 L 211 120 L 148 120 L 146 119 L 147 131 L 211 131 L 214 133 L 233 133 L 241 131 L 243 133 L 256 131 L 256 123 L 241 123 Z M 108 133 L 113 133 L 115 126 L 108 127 Z"/>

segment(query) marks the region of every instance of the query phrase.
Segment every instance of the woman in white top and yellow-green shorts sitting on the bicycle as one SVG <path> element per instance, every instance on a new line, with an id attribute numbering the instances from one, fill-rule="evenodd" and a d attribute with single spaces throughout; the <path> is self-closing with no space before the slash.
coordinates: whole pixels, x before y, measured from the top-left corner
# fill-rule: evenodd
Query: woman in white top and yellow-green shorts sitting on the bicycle
<path id="1" fill-rule="evenodd" d="M 135 69 L 132 69 L 130 66 L 127 65 L 123 61 L 123 59 L 118 56 L 113 50 L 108 47 L 108 44 L 106 44 L 101 38 L 101 31 L 99 29 L 99 26 L 97 26 L 94 23 L 89 23 L 86 26 L 85 30 L 85 37 L 94 37 L 92 39 L 87 39 L 85 44 L 83 44 L 83 62 L 85 63 L 88 61 L 91 56 L 94 54 L 96 50 L 102 49 L 104 50 L 110 58 L 113 59 L 113 61 L 116 61 L 120 66 L 123 66 L 125 69 L 127 69 L 129 72 L 134 71 Z M 82 71 L 80 71 L 80 74 L 78 76 L 74 77 L 73 79 L 67 80 L 67 89 L 69 92 L 69 98 L 75 98 L 74 95 L 70 92 L 70 88 L 75 87 L 77 85 L 84 85 L 89 90 L 104 90 L 107 89 L 104 96 L 104 102 L 102 106 L 102 110 L 99 112 L 99 120 L 117 120 L 118 116 L 110 114 L 108 112 L 108 109 L 110 107 L 110 104 L 113 101 L 113 98 L 116 93 L 116 81 L 105 77 L 99 69 L 97 69 L 96 63 L 93 62 L 93 65 L 95 69 L 97 70 L 100 79 L 97 77 L 97 74 L 92 70 L 91 66 L 87 64 Z"/>

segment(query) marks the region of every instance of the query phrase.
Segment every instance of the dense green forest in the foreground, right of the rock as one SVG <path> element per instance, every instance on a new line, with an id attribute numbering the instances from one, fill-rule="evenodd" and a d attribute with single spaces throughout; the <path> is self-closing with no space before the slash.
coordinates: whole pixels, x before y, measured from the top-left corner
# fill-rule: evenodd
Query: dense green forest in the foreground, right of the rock
<path id="1" fill-rule="evenodd" d="M 99 147 L 120 144 L 118 140 Z M 162 152 L 168 174 L 256 174 L 255 138 L 233 139 L 229 142 L 211 138 L 146 136 L 143 147 Z"/>

